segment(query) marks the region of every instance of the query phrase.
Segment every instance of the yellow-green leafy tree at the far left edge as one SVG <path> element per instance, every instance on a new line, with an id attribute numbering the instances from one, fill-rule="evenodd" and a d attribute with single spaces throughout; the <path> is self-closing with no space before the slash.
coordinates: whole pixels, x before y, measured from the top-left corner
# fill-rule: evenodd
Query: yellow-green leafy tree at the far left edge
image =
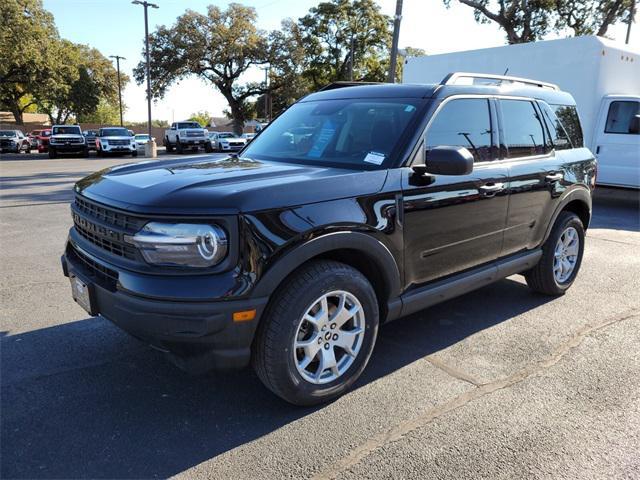
<path id="1" fill-rule="evenodd" d="M 0 0 L 0 12 L 0 108 L 22 124 L 58 67 L 52 55 L 58 33 L 41 0 Z"/>

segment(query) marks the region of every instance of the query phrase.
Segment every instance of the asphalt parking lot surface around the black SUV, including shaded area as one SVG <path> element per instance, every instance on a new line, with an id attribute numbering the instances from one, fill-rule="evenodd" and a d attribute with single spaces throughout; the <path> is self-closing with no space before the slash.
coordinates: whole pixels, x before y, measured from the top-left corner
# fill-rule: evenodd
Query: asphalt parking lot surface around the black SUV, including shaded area
<path id="1" fill-rule="evenodd" d="M 71 300 L 70 187 L 129 161 L 0 160 L 2 478 L 640 478 L 638 192 L 597 190 L 564 297 L 514 276 L 393 322 L 351 393 L 296 408 Z"/>

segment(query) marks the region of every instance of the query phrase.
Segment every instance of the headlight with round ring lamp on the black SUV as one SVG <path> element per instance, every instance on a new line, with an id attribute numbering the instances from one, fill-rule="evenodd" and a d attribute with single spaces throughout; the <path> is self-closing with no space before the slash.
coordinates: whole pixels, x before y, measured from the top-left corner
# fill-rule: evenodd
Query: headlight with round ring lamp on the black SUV
<path id="1" fill-rule="evenodd" d="M 211 267 L 227 255 L 227 236 L 217 225 L 151 222 L 128 240 L 154 265 Z"/>

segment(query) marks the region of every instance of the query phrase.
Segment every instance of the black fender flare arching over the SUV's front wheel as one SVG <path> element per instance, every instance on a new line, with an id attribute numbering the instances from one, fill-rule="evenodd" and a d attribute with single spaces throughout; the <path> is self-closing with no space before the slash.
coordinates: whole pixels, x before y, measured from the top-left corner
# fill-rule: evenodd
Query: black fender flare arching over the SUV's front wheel
<path id="1" fill-rule="evenodd" d="M 256 284 L 252 297 L 271 295 L 276 286 L 308 260 L 334 250 L 357 250 L 373 261 L 384 278 L 389 298 L 400 295 L 400 269 L 389 249 L 372 235 L 361 232 L 333 232 L 313 238 L 286 253 Z M 381 299 L 387 301 L 388 299 Z"/>

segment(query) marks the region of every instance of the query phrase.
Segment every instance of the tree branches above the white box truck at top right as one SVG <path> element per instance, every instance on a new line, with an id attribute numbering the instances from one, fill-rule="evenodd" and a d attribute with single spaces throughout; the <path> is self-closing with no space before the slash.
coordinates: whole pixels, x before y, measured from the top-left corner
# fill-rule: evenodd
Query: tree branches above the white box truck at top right
<path id="1" fill-rule="evenodd" d="M 450 6 L 452 1 L 443 0 Z M 634 0 L 457 0 L 473 8 L 476 21 L 495 22 L 507 42 L 526 43 L 565 28 L 575 35 L 605 35 L 607 29 L 628 20 Z"/>

